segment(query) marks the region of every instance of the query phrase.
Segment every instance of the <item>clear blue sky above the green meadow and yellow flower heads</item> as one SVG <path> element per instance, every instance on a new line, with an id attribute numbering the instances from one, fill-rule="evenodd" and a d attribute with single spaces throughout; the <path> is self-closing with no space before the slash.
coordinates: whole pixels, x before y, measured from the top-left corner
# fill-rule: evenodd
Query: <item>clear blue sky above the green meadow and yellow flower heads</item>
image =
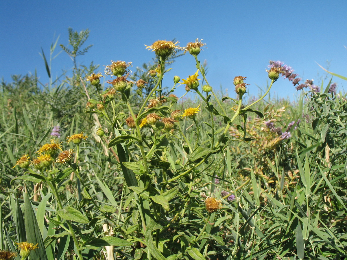
<path id="1" fill-rule="evenodd" d="M 68 44 L 68 27 L 90 29 L 86 45 L 94 46 L 78 57 L 86 66 L 110 60 L 133 62 L 134 71 L 154 57 L 145 49 L 156 40 L 176 38 L 180 46 L 203 38 L 208 49 L 199 55 L 207 61 L 208 80 L 215 89 L 235 96 L 232 79 L 247 77 L 248 92 L 256 95 L 269 81 L 269 60 L 281 60 L 305 79 L 321 84 L 324 71 L 317 65 L 347 76 L 347 1 L 2 1 L 0 11 L 0 77 L 34 73 L 48 82 L 41 47 L 49 56 L 51 43 Z M 58 46 L 54 54 L 60 52 Z M 317 62 L 317 63 L 316 63 Z M 52 61 L 53 76 L 70 70 L 65 52 Z M 166 76 L 170 86 L 175 75 L 186 78 L 196 71 L 194 58 L 177 59 Z M 333 78 L 338 89 L 347 82 Z M 184 86 L 177 95 L 184 93 Z M 298 96 L 293 85 L 280 78 L 272 95 Z"/>

